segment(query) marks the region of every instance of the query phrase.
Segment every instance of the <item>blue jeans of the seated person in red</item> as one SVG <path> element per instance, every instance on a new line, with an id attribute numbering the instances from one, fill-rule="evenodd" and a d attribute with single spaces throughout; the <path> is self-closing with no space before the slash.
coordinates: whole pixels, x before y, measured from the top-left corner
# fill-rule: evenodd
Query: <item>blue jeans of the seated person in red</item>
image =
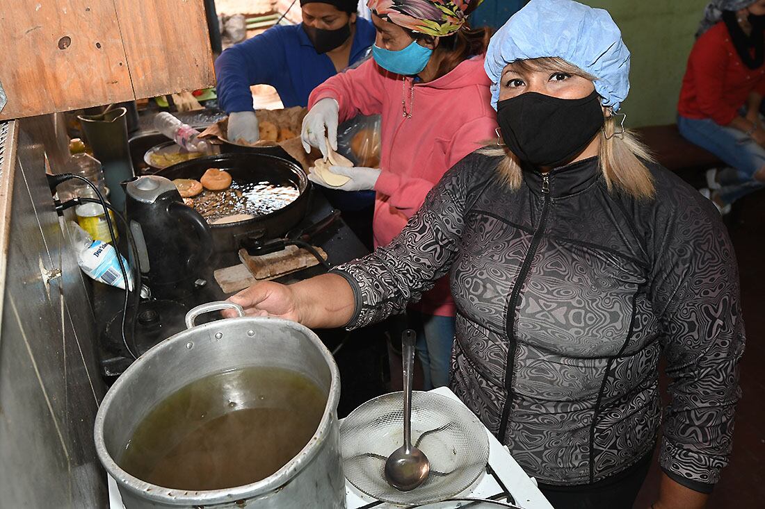
<path id="1" fill-rule="evenodd" d="M 754 173 L 765 167 L 765 148 L 738 129 L 718 125 L 711 118 L 698 120 L 677 117 L 683 138 L 715 154 L 733 171 L 721 173 L 718 195 L 724 203 L 733 203 L 742 196 L 763 189 L 765 183 L 754 179 Z"/>

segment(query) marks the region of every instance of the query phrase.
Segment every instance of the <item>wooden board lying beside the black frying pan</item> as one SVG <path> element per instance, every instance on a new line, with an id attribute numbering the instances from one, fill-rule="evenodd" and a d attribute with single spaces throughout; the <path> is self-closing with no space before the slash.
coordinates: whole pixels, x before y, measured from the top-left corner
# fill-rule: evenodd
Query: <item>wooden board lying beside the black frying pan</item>
<path id="1" fill-rule="evenodd" d="M 324 260 L 327 259 L 324 250 L 316 250 Z M 213 273 L 223 293 L 238 292 L 258 281 L 272 280 L 319 264 L 313 254 L 295 245 L 262 256 L 250 256 L 246 249 L 240 249 L 239 260 L 241 264 L 218 269 Z"/>

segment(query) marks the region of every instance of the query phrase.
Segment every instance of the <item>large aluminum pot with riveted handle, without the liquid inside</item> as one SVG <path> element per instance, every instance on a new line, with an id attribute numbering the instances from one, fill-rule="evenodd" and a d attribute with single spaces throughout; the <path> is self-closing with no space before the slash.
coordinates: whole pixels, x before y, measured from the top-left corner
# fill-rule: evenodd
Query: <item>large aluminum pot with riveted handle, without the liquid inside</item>
<path id="1" fill-rule="evenodd" d="M 194 326 L 198 315 L 230 307 L 239 312 L 238 318 Z M 116 479 L 126 509 L 346 507 L 337 421 L 340 374 L 334 358 L 314 332 L 298 323 L 243 315 L 233 303 L 197 306 L 186 316 L 187 330 L 148 350 L 106 393 L 96 415 L 96 452 Z M 328 395 L 314 436 L 274 475 L 237 488 L 181 491 L 148 484 L 119 468 L 114 458 L 119 458 L 135 427 L 161 400 L 209 374 L 249 366 L 298 371 Z"/>

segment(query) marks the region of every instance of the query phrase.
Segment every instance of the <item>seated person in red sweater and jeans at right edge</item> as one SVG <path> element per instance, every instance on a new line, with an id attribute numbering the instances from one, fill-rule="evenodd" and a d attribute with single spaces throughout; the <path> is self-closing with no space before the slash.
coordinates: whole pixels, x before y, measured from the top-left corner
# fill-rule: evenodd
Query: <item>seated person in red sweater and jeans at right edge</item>
<path id="1" fill-rule="evenodd" d="M 678 128 L 688 141 L 728 164 L 707 173 L 702 190 L 721 213 L 765 186 L 765 0 L 715 0 L 688 57 Z"/>

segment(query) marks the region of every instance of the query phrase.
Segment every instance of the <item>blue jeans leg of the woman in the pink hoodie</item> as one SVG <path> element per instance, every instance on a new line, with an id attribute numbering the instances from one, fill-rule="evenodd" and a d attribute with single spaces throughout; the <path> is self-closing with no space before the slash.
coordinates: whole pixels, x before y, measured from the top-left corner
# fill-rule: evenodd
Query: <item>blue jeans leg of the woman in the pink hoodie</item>
<path id="1" fill-rule="evenodd" d="M 412 310 L 408 313 L 417 332 L 417 355 L 422 364 L 425 391 L 448 386 L 454 316 L 425 315 Z"/>

